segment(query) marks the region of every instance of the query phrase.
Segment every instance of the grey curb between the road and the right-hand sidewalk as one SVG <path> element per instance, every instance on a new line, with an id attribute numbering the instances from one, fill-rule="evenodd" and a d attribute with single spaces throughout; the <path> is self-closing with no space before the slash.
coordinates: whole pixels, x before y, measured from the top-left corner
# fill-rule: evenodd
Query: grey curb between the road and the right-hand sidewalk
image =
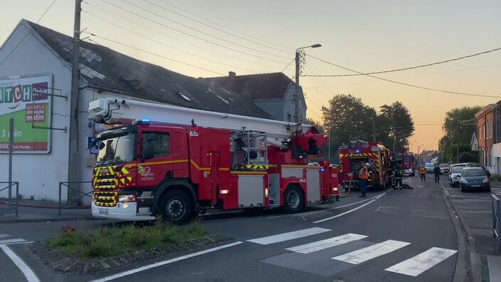
<path id="1" fill-rule="evenodd" d="M 441 184 L 441 194 L 447 207 L 454 228 L 458 234 L 458 262 L 456 263 L 453 282 L 460 281 L 482 281 L 482 262 L 480 254 L 476 251 L 475 237 L 466 224 L 463 215 L 458 212 L 454 202 L 450 199 L 450 193 L 443 189 Z M 465 273 L 466 272 L 466 273 Z"/>

